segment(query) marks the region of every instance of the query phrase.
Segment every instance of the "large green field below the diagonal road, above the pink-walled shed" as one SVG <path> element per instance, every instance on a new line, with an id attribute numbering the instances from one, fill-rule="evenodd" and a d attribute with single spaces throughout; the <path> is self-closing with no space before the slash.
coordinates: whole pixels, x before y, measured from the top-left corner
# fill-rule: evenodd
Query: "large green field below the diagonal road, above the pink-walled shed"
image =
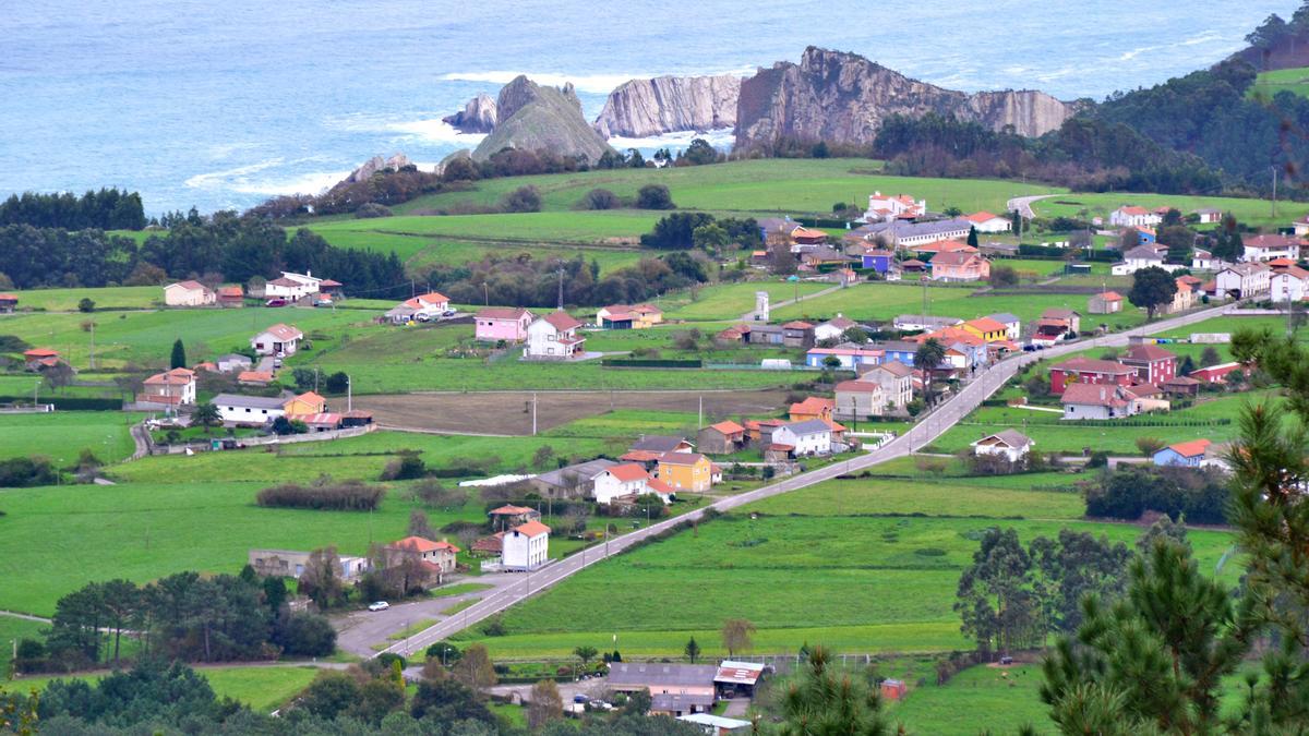
<path id="1" fill-rule="evenodd" d="M 675 656 L 694 634 L 713 656 L 724 653 L 723 621 L 744 617 L 758 626 L 757 652 L 805 642 L 852 653 L 965 648 L 954 591 L 988 526 L 1013 526 L 1024 541 L 1066 526 L 1126 543 L 1141 532 L 1077 520 L 1077 496 L 1031 490 L 1029 477 L 995 481 L 861 478 L 802 488 L 575 575 L 507 612 L 507 636 L 474 627 L 459 638 L 514 657 L 567 656 L 617 634 L 624 653 Z M 1232 545 L 1215 530 L 1192 530 L 1191 541 L 1206 570 Z M 1223 568 L 1224 580 L 1236 581 L 1236 567 Z M 670 600 L 678 605 L 662 602 Z"/>

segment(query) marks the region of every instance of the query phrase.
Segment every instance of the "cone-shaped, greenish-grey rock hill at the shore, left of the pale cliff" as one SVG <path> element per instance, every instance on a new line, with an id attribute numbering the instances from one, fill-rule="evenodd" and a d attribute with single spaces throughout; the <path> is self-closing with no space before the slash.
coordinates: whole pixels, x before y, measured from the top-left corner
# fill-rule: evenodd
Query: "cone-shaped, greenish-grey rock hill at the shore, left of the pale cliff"
<path id="1" fill-rule="evenodd" d="M 500 90 L 495 130 L 473 151 L 473 158 L 486 161 L 503 148 L 547 149 L 560 156 L 584 156 L 592 162 L 610 151 L 583 117 L 571 84 L 555 89 L 521 75 Z"/>

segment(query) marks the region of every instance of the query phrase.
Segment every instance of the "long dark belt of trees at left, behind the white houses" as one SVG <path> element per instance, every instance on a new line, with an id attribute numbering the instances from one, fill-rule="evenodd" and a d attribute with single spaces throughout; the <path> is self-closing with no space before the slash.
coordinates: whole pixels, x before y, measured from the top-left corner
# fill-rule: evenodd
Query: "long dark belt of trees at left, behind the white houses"
<path id="1" fill-rule="evenodd" d="M 243 283 L 283 270 L 313 270 L 339 275 L 347 293 L 378 299 L 408 293 L 404 265 L 394 253 L 335 248 L 306 229 L 288 238 L 268 219 L 234 212 L 183 219 L 140 246 L 96 229 L 7 225 L 0 228 L 0 253 L 5 254 L 0 285 L 16 288 L 158 285 L 183 278 Z"/>

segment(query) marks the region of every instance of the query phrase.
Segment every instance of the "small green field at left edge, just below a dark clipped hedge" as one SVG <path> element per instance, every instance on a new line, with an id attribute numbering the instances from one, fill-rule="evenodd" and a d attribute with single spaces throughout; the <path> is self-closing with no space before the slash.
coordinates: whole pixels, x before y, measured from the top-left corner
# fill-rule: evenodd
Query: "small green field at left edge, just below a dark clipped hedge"
<path id="1" fill-rule="evenodd" d="M 103 462 L 118 462 L 136 449 L 128 427 L 140 418 L 122 411 L 0 414 L 0 460 L 43 454 L 65 466 L 85 448 Z"/>

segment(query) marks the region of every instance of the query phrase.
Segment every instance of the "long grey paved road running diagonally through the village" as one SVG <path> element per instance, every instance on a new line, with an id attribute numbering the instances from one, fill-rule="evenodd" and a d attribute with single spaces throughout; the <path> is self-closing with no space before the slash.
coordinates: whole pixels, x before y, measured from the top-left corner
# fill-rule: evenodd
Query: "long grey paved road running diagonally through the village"
<path id="1" fill-rule="evenodd" d="M 1212 317 L 1219 317 L 1227 306 L 1215 306 L 1204 309 L 1200 312 L 1192 312 L 1190 314 L 1182 314 L 1179 317 L 1173 317 L 1170 320 L 1162 320 L 1148 325 L 1139 330 L 1140 333 L 1162 333 L 1183 327 L 1186 325 L 1210 320 Z M 1039 359 L 1052 359 L 1069 352 L 1077 352 L 1086 350 L 1089 347 L 1122 347 L 1127 344 L 1127 333 L 1117 333 L 1113 335 L 1106 335 L 1102 338 L 1096 338 L 1093 340 L 1075 340 L 1071 343 L 1055 346 L 1052 348 L 1042 350 L 1038 352 L 1024 352 L 1005 360 L 1001 360 L 983 372 L 980 376 L 974 378 L 970 384 L 965 385 L 957 394 L 942 401 L 936 406 L 927 416 L 922 418 L 910 431 L 905 432 L 899 437 L 891 440 L 890 443 L 874 449 L 864 456 L 847 460 L 844 462 L 836 462 L 826 468 L 819 468 L 818 470 L 812 470 L 800 475 L 792 475 L 771 486 L 764 486 L 762 488 L 755 488 L 740 495 L 729 496 L 723 500 L 715 502 L 706 508 L 715 508 L 717 511 L 730 511 L 733 508 L 754 503 L 770 496 L 779 494 L 791 492 L 798 488 L 813 486 L 814 483 L 821 483 L 823 481 L 830 481 L 838 475 L 846 473 L 852 473 L 856 470 L 863 470 L 872 468 L 898 457 L 907 456 L 923 445 L 929 444 L 936 437 L 945 433 L 950 427 L 958 423 L 961 419 L 967 416 L 974 409 L 977 409 L 983 399 L 990 397 L 992 393 L 1000 389 L 1005 381 L 1013 377 L 1021 368 L 1029 365 L 1030 363 Z M 569 578 L 581 570 L 596 564 L 605 558 L 617 555 L 632 546 L 634 543 L 645 540 L 653 534 L 664 532 L 665 529 L 681 524 L 689 520 L 700 519 L 706 509 L 696 509 L 690 513 L 665 519 L 652 524 L 644 529 L 631 532 L 622 537 L 615 537 L 609 540 L 602 545 L 597 545 L 592 549 L 584 549 L 583 551 L 558 561 L 547 567 L 537 570 L 535 572 L 524 574 L 518 580 L 512 581 L 508 585 L 499 587 L 493 593 L 487 595 L 476 604 L 467 608 L 461 614 L 442 621 L 431 629 L 420 631 L 408 639 L 397 642 L 384 651 L 412 655 L 414 652 L 425 650 L 428 646 L 435 644 L 450 635 L 462 631 L 467 626 L 483 621 L 501 610 Z M 487 576 L 483 576 L 487 579 Z M 490 581 L 490 579 L 488 579 Z M 415 605 L 415 604 L 407 604 Z M 423 604 L 416 604 L 423 605 Z M 395 606 L 393 610 L 402 609 L 404 606 Z"/>

